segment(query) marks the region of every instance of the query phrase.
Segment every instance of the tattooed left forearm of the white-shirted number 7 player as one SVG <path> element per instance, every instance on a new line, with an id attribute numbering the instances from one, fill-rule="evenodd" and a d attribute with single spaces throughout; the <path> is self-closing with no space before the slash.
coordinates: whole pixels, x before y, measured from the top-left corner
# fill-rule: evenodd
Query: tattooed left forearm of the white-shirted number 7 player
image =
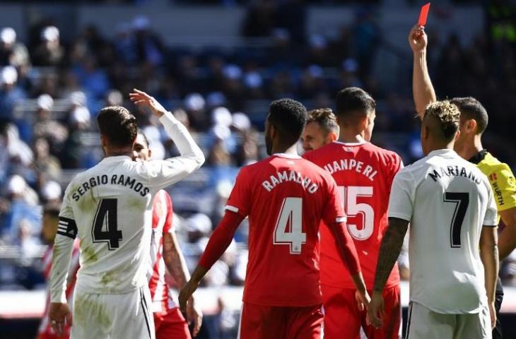
<path id="1" fill-rule="evenodd" d="M 382 239 L 376 266 L 373 297 L 368 309 L 370 321 L 376 328 L 383 325 L 383 316 L 385 314 L 382 297 L 383 287 L 385 287 L 394 263 L 398 259 L 408 227 L 409 222 L 407 220 L 389 218 L 389 227 Z"/>

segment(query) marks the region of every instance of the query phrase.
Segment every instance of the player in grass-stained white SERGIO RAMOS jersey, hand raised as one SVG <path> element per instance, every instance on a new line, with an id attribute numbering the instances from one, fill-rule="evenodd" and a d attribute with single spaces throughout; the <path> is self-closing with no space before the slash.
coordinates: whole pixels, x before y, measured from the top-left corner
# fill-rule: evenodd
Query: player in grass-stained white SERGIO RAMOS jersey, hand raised
<path id="1" fill-rule="evenodd" d="M 105 158 L 69 184 L 59 213 L 50 279 L 49 320 L 57 334 L 71 313 L 65 280 L 74 239 L 81 268 L 74 292 L 72 338 L 155 338 L 146 273 L 156 193 L 192 173 L 204 155 L 187 129 L 153 97 L 139 90 L 136 105 L 151 109 L 181 155 L 135 162 L 136 119 L 124 107 L 105 107 L 97 120 Z M 66 323 L 65 323 L 66 320 Z"/>

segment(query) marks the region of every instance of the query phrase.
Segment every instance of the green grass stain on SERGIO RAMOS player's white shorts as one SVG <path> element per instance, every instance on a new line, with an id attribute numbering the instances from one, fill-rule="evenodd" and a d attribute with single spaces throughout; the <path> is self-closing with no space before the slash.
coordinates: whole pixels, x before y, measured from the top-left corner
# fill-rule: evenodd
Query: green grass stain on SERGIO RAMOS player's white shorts
<path id="1" fill-rule="evenodd" d="M 112 325 L 110 314 L 106 305 L 100 302 L 101 295 L 79 294 L 74 301 L 74 321 L 83 325 L 91 324 L 100 326 L 102 330 L 109 331 Z"/>

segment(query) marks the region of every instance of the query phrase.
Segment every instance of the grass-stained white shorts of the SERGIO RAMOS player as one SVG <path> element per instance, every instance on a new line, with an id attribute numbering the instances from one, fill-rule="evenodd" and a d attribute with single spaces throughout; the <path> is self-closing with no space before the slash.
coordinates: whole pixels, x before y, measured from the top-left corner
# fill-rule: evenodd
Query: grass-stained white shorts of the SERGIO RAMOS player
<path id="1" fill-rule="evenodd" d="M 72 339 L 155 339 L 151 293 L 145 285 L 121 295 L 74 292 Z"/>

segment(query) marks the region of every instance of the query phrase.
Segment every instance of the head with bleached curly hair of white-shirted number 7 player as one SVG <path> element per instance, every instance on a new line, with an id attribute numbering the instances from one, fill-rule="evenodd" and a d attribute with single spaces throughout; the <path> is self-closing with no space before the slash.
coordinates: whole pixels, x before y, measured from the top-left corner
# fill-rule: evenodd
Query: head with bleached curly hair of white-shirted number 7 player
<path id="1" fill-rule="evenodd" d="M 435 136 L 452 141 L 459 130 L 459 108 L 448 100 L 436 101 L 426 107 L 424 120 Z"/>

